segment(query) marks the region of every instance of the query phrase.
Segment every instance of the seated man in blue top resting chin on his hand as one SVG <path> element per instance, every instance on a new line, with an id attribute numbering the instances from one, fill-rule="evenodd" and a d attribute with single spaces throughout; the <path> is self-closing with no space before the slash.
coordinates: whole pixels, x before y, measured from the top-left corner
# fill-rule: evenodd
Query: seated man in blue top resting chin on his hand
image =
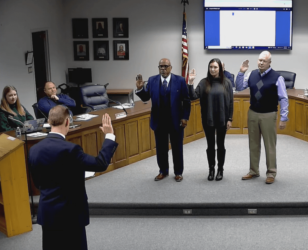
<path id="1" fill-rule="evenodd" d="M 73 113 L 70 110 L 70 108 L 76 106 L 76 103 L 73 99 L 71 99 L 68 95 L 65 94 L 57 95 L 57 89 L 53 82 L 45 83 L 44 91 L 47 96 L 39 100 L 38 106 L 39 110 L 42 111 L 46 117 L 48 117 L 51 108 L 57 105 L 64 105 L 65 107 L 67 107 L 70 114 L 73 116 Z"/>

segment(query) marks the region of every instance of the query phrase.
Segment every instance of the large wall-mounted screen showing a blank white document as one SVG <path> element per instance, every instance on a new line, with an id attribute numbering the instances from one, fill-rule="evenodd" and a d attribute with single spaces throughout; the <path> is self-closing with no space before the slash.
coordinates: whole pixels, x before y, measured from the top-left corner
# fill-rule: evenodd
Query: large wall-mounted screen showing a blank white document
<path id="1" fill-rule="evenodd" d="M 292 50 L 292 0 L 204 0 L 204 49 Z"/>

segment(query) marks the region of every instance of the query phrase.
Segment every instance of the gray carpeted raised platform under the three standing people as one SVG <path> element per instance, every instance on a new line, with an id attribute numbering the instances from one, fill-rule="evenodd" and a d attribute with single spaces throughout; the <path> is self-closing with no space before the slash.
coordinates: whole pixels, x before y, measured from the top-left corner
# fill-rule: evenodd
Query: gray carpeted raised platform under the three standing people
<path id="1" fill-rule="evenodd" d="M 260 177 L 241 180 L 249 171 L 248 135 L 226 135 L 223 180 L 208 181 L 206 139 L 202 138 L 184 145 L 182 182 L 174 179 L 171 151 L 169 176 L 163 180 L 154 181 L 159 173 L 156 156 L 87 180 L 90 212 L 92 215 L 180 215 L 181 209 L 194 208 L 194 215 L 242 215 L 247 213 L 247 208 L 260 208 L 258 214 L 262 215 L 307 214 L 308 143 L 278 135 L 278 171 L 270 185 L 265 184 L 265 151 L 261 143 Z M 34 200 L 37 203 L 38 197 Z M 164 212 L 164 208 L 169 212 Z M 238 212 L 230 210 L 243 208 Z M 276 213 L 267 208 L 275 208 Z M 290 212 L 286 208 L 298 209 Z M 134 212 L 136 209 L 148 212 Z"/>

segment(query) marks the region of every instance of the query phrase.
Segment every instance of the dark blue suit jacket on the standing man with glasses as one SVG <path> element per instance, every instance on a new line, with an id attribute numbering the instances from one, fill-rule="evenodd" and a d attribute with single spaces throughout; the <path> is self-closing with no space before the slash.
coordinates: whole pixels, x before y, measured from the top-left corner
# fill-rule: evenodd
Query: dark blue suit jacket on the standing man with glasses
<path id="1" fill-rule="evenodd" d="M 158 123 L 163 123 L 160 120 L 160 110 L 159 110 L 159 88 L 161 84 L 160 75 L 151 76 L 148 79 L 148 84 L 136 95 L 144 102 L 151 98 L 151 120 L 150 127 L 152 130 L 156 130 Z M 190 115 L 190 99 L 188 95 L 188 87 L 186 85 L 185 79 L 182 76 L 171 74 L 170 78 L 170 88 L 171 88 L 171 114 L 172 123 L 174 128 L 180 128 L 181 119 L 189 119 Z"/>

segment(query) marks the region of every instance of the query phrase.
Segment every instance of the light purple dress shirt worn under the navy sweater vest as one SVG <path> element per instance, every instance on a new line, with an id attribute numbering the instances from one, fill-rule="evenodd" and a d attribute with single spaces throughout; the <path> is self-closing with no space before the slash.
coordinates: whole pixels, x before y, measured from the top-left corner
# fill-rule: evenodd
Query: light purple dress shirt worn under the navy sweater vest
<path id="1" fill-rule="evenodd" d="M 261 74 L 261 76 L 263 76 L 267 72 L 269 72 L 271 69 L 272 67 L 270 67 L 268 70 L 264 71 L 263 73 L 261 73 L 259 70 L 259 73 Z M 235 80 L 237 91 L 242 91 L 248 88 L 248 79 L 249 79 L 250 74 L 251 74 L 251 71 L 247 74 L 247 76 L 244 77 L 245 73 L 238 72 L 236 80 Z M 280 116 L 281 116 L 280 120 L 285 122 L 288 120 L 289 101 L 288 101 L 288 94 L 286 91 L 285 79 L 282 76 L 278 77 L 276 86 L 277 86 L 277 91 L 278 91 L 278 100 L 280 104 Z"/>

